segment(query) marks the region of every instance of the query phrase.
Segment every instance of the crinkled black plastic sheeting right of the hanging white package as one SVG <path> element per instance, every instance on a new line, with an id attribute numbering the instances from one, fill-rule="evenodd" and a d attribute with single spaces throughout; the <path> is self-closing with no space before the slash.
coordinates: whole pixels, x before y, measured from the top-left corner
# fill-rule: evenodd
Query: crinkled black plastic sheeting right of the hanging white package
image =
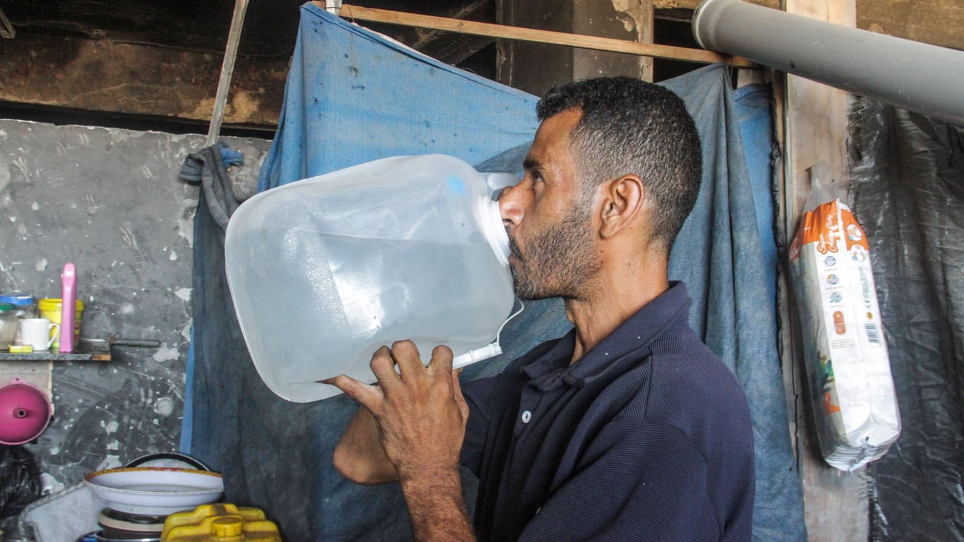
<path id="1" fill-rule="evenodd" d="M 870 464 L 870 539 L 964 541 L 964 126 L 861 99 L 850 132 L 904 427 Z"/>

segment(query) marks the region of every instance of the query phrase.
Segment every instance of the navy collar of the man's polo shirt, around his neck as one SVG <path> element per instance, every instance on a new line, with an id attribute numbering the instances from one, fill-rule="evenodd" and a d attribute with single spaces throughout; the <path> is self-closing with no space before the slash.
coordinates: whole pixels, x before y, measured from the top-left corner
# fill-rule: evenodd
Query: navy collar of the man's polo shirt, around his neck
<path id="1" fill-rule="evenodd" d="M 615 360 L 645 348 L 681 320 L 686 322 L 689 305 L 686 285 L 671 282 L 666 291 L 629 316 L 576 364 L 569 365 L 576 347 L 574 329 L 537 360 L 522 366 L 522 371 L 531 378 L 532 385 L 543 391 L 561 385 L 582 386 L 601 377 Z"/>

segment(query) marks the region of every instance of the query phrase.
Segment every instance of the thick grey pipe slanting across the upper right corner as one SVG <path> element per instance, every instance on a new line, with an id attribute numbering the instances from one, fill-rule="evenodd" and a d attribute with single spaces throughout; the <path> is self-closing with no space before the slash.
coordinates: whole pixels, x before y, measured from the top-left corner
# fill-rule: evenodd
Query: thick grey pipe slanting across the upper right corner
<path id="1" fill-rule="evenodd" d="M 964 123 L 964 51 L 746 4 L 704 0 L 700 46 L 948 122 Z"/>

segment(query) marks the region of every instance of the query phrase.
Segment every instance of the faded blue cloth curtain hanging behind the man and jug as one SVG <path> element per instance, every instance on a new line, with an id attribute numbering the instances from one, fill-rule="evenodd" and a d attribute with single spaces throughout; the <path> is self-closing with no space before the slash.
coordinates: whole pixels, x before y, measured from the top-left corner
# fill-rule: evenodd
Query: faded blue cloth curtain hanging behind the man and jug
<path id="1" fill-rule="evenodd" d="M 732 91 L 722 66 L 664 85 L 683 97 L 704 145 L 703 188 L 673 249 L 670 276 L 688 285 L 693 328 L 734 370 L 750 402 L 755 539 L 805 540 L 776 349 L 769 90 Z M 538 125 L 535 102 L 535 96 L 443 65 L 307 4 L 259 189 L 429 152 L 457 156 L 480 171 L 520 175 Z M 358 486 L 332 467 L 353 401 L 339 395 L 289 403 L 257 377 L 228 295 L 223 227 L 208 208 L 218 204 L 202 193 L 195 222 L 184 451 L 224 473 L 226 499 L 265 510 L 285 540 L 409 539 L 396 484 Z M 569 327 L 558 300 L 528 304 L 502 333 L 505 354 L 469 367 L 464 378 L 495 373 Z M 470 474 L 465 485 L 471 509 Z"/>

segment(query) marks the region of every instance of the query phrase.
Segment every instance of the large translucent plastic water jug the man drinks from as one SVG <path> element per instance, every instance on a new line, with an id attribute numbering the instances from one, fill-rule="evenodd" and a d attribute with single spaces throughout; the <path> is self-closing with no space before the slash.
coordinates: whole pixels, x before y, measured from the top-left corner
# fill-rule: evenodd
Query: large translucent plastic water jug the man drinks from
<path id="1" fill-rule="evenodd" d="M 228 286 L 268 388 L 308 402 L 339 393 L 318 380 L 374 382 L 371 355 L 399 339 L 425 363 L 438 344 L 455 366 L 501 353 L 514 295 L 492 194 L 516 181 L 452 156 L 397 156 L 242 203 L 225 237 Z"/>

